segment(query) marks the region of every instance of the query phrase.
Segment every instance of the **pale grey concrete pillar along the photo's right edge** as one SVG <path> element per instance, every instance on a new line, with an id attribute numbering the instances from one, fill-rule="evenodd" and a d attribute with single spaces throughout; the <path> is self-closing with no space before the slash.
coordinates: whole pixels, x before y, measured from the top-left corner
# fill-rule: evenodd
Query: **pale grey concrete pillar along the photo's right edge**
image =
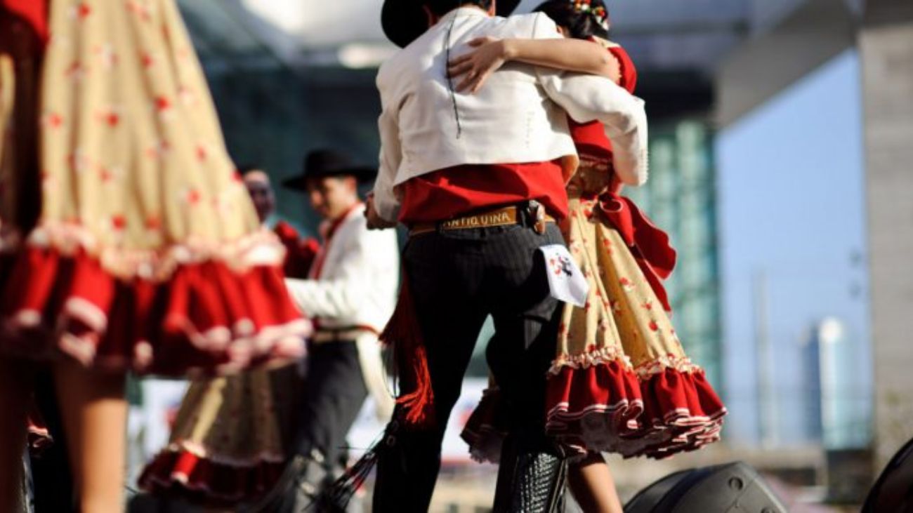
<path id="1" fill-rule="evenodd" d="M 913 437 L 913 5 L 869 1 L 859 36 L 875 365 L 876 469 Z"/>

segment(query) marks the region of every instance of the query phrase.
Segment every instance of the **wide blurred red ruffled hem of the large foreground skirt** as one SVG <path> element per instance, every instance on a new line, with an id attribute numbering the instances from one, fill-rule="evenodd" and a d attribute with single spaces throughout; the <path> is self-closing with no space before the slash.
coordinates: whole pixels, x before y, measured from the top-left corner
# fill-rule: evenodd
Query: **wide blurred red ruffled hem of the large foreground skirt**
<path id="1" fill-rule="evenodd" d="M 310 322 L 278 267 L 179 265 L 162 282 L 113 277 L 79 251 L 26 246 L 0 258 L 0 343 L 29 358 L 62 352 L 101 369 L 183 375 L 300 358 Z"/>

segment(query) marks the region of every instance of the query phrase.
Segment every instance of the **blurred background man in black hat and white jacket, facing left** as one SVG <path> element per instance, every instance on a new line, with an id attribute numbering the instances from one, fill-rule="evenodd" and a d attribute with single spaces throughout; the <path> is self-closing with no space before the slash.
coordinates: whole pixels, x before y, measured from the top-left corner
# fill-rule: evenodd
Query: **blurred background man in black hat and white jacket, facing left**
<path id="1" fill-rule="evenodd" d="M 388 418 L 393 409 L 377 335 L 394 309 L 399 250 L 395 232 L 368 231 L 357 188 L 375 174 L 321 150 L 307 156 L 304 173 L 284 183 L 308 194 L 323 238 L 308 279 L 286 279 L 292 300 L 316 328 L 287 473 L 292 479 L 285 482 L 296 489 L 283 497 L 285 508 L 294 502 L 295 511 L 309 506 L 341 469 L 345 436 L 368 394 L 379 416 Z"/>

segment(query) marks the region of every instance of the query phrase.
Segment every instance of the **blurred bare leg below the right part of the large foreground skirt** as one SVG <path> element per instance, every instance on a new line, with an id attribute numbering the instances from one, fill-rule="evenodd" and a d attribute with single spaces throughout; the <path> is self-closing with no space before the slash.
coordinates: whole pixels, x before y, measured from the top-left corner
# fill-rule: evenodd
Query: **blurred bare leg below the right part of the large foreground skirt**
<path id="1" fill-rule="evenodd" d="M 55 379 L 79 511 L 121 511 L 127 423 L 124 375 L 61 361 Z"/>

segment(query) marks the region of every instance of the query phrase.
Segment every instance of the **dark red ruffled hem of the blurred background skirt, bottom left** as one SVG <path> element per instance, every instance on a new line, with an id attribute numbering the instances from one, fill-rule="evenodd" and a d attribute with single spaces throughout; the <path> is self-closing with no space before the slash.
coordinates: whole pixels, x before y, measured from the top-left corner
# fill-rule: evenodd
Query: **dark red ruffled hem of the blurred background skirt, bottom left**
<path id="1" fill-rule="evenodd" d="M 156 495 L 181 497 L 208 508 L 236 507 L 276 486 L 284 461 L 219 462 L 185 449 L 168 448 L 145 467 L 139 484 Z"/>

